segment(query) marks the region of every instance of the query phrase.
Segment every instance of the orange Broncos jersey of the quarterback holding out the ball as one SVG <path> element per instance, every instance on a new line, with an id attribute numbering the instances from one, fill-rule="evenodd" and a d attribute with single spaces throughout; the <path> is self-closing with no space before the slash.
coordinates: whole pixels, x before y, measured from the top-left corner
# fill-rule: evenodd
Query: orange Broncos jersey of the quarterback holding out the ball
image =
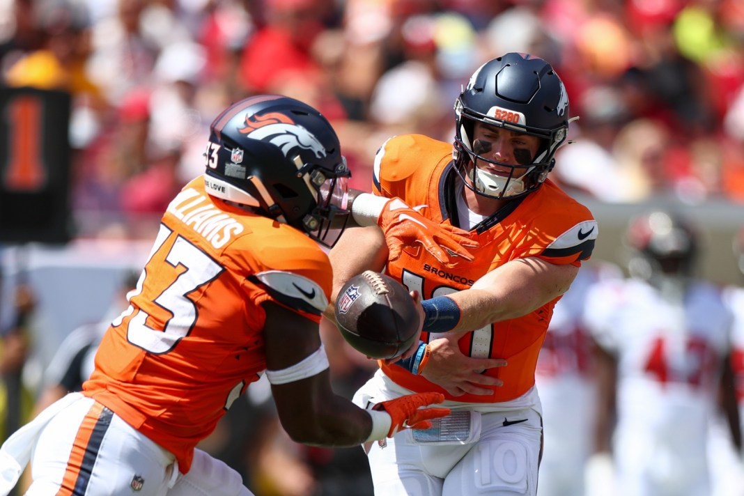
<path id="1" fill-rule="evenodd" d="M 403 135 L 388 140 L 375 161 L 373 190 L 382 196 L 397 196 L 409 205 L 428 205 L 426 216 L 451 223 L 456 216 L 450 204 L 462 181 L 455 172 L 452 145 L 422 135 Z M 515 199 L 496 216 L 485 219 L 470 231 L 480 246 L 471 250 L 473 262 L 462 260 L 453 267 L 437 262 L 420 247 L 404 248 L 403 255 L 388 263 L 386 271 L 424 299 L 468 289 L 484 274 L 510 260 L 539 257 L 550 263 L 580 265 L 594 248 L 597 224 L 591 212 L 547 180 L 534 193 Z M 408 389 L 440 391 L 459 402 L 506 402 L 526 393 L 535 383 L 535 367 L 542 341 L 559 298 L 520 318 L 493 323 L 466 333 L 460 349 L 476 358 L 505 358 L 507 367 L 487 370 L 504 381 L 490 396 L 451 396 L 422 376 L 414 376 L 397 365 L 382 370 Z M 422 339 L 436 335 L 424 332 Z"/>

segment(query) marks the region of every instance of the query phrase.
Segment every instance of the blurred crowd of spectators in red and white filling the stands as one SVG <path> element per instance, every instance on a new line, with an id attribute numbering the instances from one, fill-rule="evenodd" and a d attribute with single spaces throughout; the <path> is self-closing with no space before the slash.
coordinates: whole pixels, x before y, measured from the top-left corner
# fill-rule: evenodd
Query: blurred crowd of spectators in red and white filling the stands
<path id="1" fill-rule="evenodd" d="M 321 110 L 352 186 L 369 190 L 386 138 L 452 141 L 461 86 L 509 51 L 551 62 L 580 117 L 551 174 L 569 193 L 744 205 L 742 0 L 0 0 L 0 86 L 72 95 L 79 238 L 153 239 L 204 169 L 211 121 L 250 94 Z M 22 329 L 33 295 L 17 308 Z M 350 396 L 374 364 L 325 334 Z M 4 375 L 28 352 L 19 336 L 4 332 Z M 10 391 L 5 405 L 38 393 Z M 204 448 L 257 496 L 371 494 L 361 450 L 295 445 L 268 391 L 248 396 Z"/>

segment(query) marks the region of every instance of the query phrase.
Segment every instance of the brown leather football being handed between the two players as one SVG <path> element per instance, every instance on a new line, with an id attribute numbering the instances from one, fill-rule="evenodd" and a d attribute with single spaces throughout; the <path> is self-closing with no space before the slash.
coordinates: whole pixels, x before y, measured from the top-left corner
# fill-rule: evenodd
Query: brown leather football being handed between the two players
<path id="1" fill-rule="evenodd" d="M 381 360 L 403 355 L 417 340 L 420 327 L 408 289 L 374 271 L 344 284 L 336 297 L 336 323 L 355 350 Z"/>

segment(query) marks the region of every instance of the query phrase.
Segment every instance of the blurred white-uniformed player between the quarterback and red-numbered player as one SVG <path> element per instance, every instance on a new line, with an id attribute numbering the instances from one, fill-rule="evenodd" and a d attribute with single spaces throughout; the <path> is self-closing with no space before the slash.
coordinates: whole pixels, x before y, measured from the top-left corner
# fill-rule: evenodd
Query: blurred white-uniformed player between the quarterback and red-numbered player
<path id="1" fill-rule="evenodd" d="M 622 273 L 616 265 L 583 265 L 553 310 L 535 371 L 545 444 L 537 496 L 585 494 L 581 474 L 592 452 L 596 382 L 594 342 L 581 319 L 591 286 L 619 277 Z"/>

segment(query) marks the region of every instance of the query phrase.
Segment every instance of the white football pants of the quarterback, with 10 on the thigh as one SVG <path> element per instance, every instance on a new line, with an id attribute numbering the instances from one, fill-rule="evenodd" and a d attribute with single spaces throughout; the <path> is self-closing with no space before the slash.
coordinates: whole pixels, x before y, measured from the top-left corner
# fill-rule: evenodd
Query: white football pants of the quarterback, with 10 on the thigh
<path id="1" fill-rule="evenodd" d="M 362 408 L 408 393 L 378 373 L 354 396 Z M 477 409 L 466 442 L 418 442 L 413 431 L 373 442 L 368 459 L 377 496 L 535 496 L 542 418 L 535 408 L 491 410 L 490 405 L 452 404 Z M 495 408 L 495 405 L 494 405 Z M 422 431 L 426 432 L 426 431 Z"/>

